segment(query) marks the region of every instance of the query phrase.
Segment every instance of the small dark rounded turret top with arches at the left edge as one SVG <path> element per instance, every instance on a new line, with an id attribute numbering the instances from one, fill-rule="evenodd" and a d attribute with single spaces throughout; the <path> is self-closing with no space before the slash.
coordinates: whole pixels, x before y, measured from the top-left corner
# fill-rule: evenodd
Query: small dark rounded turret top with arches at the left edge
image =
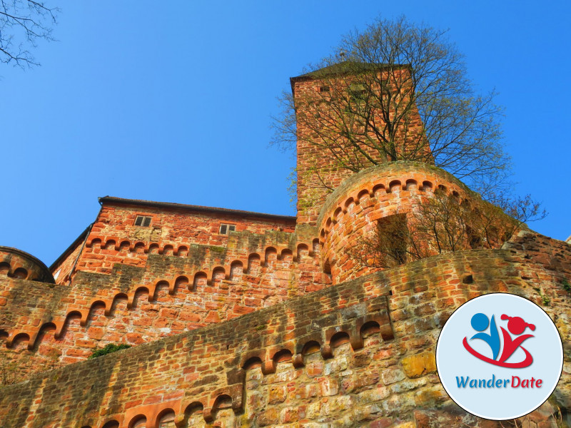
<path id="1" fill-rule="evenodd" d="M 0 245 L 0 277 L 2 276 L 51 284 L 55 282 L 48 267 L 41 260 L 17 248 Z"/>

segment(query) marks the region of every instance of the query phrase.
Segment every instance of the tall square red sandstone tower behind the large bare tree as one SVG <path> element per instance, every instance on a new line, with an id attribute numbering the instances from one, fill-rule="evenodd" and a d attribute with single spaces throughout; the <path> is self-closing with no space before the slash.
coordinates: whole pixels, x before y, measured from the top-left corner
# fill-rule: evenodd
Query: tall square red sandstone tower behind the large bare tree
<path id="1" fill-rule="evenodd" d="M 298 224 L 315 225 L 326 196 L 353 173 L 399 159 L 430 163 L 410 76 L 408 66 L 345 61 L 290 79 Z"/>

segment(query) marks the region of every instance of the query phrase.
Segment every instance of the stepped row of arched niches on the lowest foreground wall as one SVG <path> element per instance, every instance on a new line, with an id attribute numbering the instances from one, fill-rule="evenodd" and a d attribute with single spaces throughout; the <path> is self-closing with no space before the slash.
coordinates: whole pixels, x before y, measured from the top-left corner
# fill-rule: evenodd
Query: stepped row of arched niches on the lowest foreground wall
<path id="1" fill-rule="evenodd" d="M 361 348 L 375 346 L 380 342 L 390 342 L 394 338 L 388 312 L 386 310 L 373 312 L 357 317 L 352 327 L 348 324 L 342 327 L 328 327 L 324 336 L 320 335 L 320 332 L 314 332 L 295 345 L 291 343 L 285 346 L 278 345 L 268 353 L 269 360 L 263 360 L 264 357 L 261 355 L 263 352 L 246 352 L 241 356 L 239 363 L 244 375 L 241 381 L 218 389 L 218 392 L 210 394 L 209 399 L 208 396 L 200 399 L 186 397 L 173 399 L 171 402 L 156 402 L 142 408 L 126 409 L 121 418 L 111 417 L 108 420 L 102 418 L 99 424 L 84 425 L 81 428 L 228 426 L 213 422 L 221 422 L 225 416 L 236 419 L 236 414 L 241 414 L 245 410 L 248 372 L 259 370 L 259 374 L 266 377 L 276 373 L 283 374 L 283 370 L 303 370 L 308 362 L 353 358 L 355 352 Z M 271 381 L 268 384 L 271 384 Z"/>

